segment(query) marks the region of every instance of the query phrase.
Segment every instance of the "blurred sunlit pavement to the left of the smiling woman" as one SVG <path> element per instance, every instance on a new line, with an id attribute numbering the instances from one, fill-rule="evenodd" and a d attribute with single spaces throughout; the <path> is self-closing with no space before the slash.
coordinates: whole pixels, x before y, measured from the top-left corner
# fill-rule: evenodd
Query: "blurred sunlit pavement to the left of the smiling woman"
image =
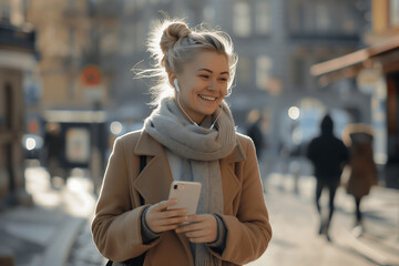
<path id="1" fill-rule="evenodd" d="M 0 255 L 17 266 L 63 266 L 93 211 L 91 183 L 71 176 L 66 185 L 54 188 L 42 167 L 27 168 L 25 182 L 34 206 L 0 212 Z"/>

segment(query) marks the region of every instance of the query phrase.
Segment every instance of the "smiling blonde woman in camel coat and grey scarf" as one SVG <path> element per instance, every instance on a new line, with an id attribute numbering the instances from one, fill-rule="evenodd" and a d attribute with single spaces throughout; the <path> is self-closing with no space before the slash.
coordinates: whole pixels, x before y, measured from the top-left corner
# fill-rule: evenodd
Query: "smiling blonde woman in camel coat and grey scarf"
<path id="1" fill-rule="evenodd" d="M 272 228 L 254 144 L 235 132 L 223 101 L 237 62 L 233 44 L 224 32 L 192 31 L 181 21 L 156 32 L 161 39 L 150 42 L 158 66 L 152 75 L 161 76 L 152 89 L 156 109 L 142 131 L 114 144 L 94 242 L 114 262 L 246 264 L 265 252 Z M 167 209 L 176 204 L 167 200 L 174 180 L 202 183 L 196 215 Z"/>

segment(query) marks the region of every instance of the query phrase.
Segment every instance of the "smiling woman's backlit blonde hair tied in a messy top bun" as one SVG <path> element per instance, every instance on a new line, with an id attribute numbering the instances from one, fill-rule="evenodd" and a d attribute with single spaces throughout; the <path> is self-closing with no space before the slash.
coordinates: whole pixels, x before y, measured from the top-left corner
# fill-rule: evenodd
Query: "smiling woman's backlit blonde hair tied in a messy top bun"
<path id="1" fill-rule="evenodd" d="M 180 73 L 183 64 L 191 62 L 201 51 L 215 51 L 227 57 L 229 68 L 227 95 L 231 93 L 238 57 L 226 32 L 208 30 L 203 24 L 191 30 L 182 20 L 165 19 L 160 21 L 150 33 L 147 47 L 155 61 L 155 68 L 139 72 L 137 78 L 157 79 L 150 89 L 151 105 L 156 106 L 162 99 L 174 95 L 167 72 Z"/>

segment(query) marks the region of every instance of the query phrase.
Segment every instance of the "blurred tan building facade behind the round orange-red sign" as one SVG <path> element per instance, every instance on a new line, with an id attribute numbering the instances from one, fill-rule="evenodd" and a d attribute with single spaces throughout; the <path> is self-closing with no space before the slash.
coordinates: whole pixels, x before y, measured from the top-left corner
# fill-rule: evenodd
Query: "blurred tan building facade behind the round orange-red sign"
<path id="1" fill-rule="evenodd" d="M 29 1 L 27 17 L 39 32 L 43 110 L 92 109 L 109 99 L 111 74 L 99 65 L 109 55 L 101 34 L 105 28 L 117 32 L 119 24 L 112 13 L 96 14 L 94 2 Z"/>

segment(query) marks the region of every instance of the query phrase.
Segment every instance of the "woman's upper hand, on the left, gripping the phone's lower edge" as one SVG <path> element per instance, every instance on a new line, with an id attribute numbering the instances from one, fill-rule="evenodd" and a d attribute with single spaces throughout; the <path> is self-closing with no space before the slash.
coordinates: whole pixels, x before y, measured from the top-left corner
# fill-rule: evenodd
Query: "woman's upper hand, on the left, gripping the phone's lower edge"
<path id="1" fill-rule="evenodd" d="M 149 207 L 145 214 L 145 223 L 152 232 L 157 234 L 175 229 L 180 224 L 187 222 L 186 208 L 167 209 L 175 204 L 177 204 L 177 200 L 172 198 Z"/>

